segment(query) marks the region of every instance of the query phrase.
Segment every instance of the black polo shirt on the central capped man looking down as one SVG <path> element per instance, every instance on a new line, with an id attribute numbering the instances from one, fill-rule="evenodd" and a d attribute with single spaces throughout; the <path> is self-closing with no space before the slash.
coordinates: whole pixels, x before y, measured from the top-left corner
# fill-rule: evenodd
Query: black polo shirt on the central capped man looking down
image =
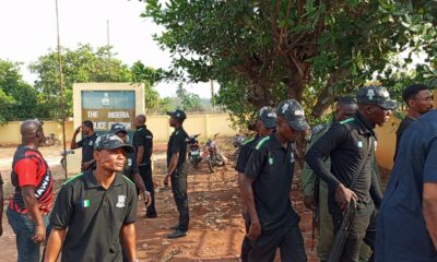
<path id="1" fill-rule="evenodd" d="M 257 143 L 245 169 L 245 176 L 255 179 L 255 206 L 263 231 L 299 222 L 290 201 L 295 164 L 293 145 L 288 143 L 284 148 L 275 135 Z"/>

